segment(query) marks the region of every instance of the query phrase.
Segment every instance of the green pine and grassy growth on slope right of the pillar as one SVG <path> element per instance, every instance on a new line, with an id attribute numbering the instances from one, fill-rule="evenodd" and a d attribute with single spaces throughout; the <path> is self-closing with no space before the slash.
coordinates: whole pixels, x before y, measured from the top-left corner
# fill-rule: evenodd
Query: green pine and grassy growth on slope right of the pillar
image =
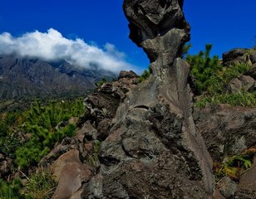
<path id="1" fill-rule="evenodd" d="M 241 90 L 239 93 L 227 92 L 230 80 L 239 77 L 249 66 L 245 63 L 236 63 L 231 67 L 223 67 L 218 56 L 209 56 L 212 45 L 206 45 L 205 51 L 196 56 L 188 55 L 186 61 L 191 66 L 191 76 L 194 79 L 196 95 L 202 95 L 195 106 L 204 107 L 206 104 L 231 104 L 234 106 L 256 106 L 256 92 L 249 93 Z"/>

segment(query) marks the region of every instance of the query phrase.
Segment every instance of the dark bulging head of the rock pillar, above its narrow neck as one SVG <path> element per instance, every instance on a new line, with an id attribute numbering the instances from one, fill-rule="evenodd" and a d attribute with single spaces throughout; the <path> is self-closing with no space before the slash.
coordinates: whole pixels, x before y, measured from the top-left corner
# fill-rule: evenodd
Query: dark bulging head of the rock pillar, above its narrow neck
<path id="1" fill-rule="evenodd" d="M 155 62 L 151 65 L 153 71 L 169 67 L 183 44 L 190 40 L 190 26 L 182 6 L 182 0 L 124 1 L 130 39 L 143 47 L 150 62 Z"/>

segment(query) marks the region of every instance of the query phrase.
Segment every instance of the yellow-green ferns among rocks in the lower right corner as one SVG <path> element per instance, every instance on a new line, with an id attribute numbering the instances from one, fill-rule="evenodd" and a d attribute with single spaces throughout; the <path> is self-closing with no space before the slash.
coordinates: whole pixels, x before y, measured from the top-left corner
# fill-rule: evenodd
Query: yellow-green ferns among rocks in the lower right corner
<path id="1" fill-rule="evenodd" d="M 239 177 L 252 167 L 256 148 L 249 148 L 239 155 L 227 158 L 224 163 L 214 163 L 214 174 L 217 180 L 228 176 L 234 181 L 239 181 Z"/>

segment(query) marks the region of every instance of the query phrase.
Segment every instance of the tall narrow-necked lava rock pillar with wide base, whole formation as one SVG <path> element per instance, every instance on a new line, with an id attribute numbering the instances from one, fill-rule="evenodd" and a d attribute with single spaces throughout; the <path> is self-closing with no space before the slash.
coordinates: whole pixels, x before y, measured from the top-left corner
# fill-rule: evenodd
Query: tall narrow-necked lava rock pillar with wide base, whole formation
<path id="1" fill-rule="evenodd" d="M 189 66 L 177 58 L 190 27 L 183 1 L 125 0 L 130 38 L 150 58 L 153 75 L 116 111 L 101 143 L 100 172 L 83 198 L 211 198 L 212 160 L 194 129 Z"/>

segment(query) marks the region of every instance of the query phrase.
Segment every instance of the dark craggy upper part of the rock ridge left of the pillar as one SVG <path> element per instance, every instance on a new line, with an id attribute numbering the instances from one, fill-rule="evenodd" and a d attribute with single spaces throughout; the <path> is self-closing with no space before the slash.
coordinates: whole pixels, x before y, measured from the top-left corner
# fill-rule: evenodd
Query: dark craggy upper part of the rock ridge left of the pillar
<path id="1" fill-rule="evenodd" d="M 137 78 L 138 75 L 133 71 L 121 71 L 118 80 L 101 85 L 96 92 L 85 99 L 87 111 L 79 123 L 82 125 L 90 120 L 97 129 L 97 139 L 105 140 L 113 124 L 112 120 L 116 116 L 116 109 L 126 99 L 130 90 L 137 85 Z"/>

